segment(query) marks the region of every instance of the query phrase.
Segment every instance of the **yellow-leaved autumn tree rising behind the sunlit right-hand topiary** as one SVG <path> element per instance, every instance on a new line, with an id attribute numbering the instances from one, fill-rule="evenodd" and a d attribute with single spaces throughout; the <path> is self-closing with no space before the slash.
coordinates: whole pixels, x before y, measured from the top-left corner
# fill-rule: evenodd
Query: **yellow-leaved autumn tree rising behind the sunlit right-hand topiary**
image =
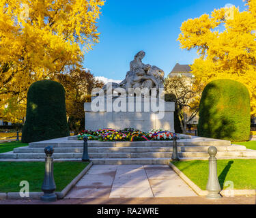
<path id="1" fill-rule="evenodd" d="M 192 68 L 203 84 L 216 79 L 242 82 L 251 94 L 251 114 L 256 115 L 256 0 L 247 10 L 223 7 L 211 15 L 188 19 L 178 37 L 181 48 L 196 49 L 199 59 Z"/>

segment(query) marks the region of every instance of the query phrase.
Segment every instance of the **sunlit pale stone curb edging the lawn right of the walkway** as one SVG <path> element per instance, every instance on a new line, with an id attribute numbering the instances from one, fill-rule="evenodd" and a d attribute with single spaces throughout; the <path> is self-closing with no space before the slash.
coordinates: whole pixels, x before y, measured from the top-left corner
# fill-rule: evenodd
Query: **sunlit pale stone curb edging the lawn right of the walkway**
<path id="1" fill-rule="evenodd" d="M 182 171 L 180 171 L 176 166 L 174 166 L 173 163 L 170 162 L 169 166 L 170 166 L 170 168 L 172 168 L 174 170 L 174 172 L 176 172 L 180 176 L 180 178 L 182 178 L 182 180 L 186 184 L 189 185 L 189 187 L 191 189 L 193 189 L 193 191 L 195 191 L 195 193 L 197 193 L 197 195 L 199 195 L 199 196 L 207 196 L 208 195 L 208 191 L 200 189 Z M 232 195 L 233 196 L 256 196 L 256 190 L 254 190 L 254 189 L 242 189 L 242 190 L 225 189 L 225 190 L 222 190 L 220 192 L 220 194 L 221 194 L 221 196 L 225 196 L 225 197 L 231 197 Z"/>

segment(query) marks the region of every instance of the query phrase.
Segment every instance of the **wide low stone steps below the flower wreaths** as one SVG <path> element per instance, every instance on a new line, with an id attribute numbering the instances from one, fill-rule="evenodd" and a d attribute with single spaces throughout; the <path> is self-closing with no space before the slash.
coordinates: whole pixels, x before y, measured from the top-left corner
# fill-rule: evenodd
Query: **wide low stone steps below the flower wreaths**
<path id="1" fill-rule="evenodd" d="M 256 159 L 256 151 L 226 140 L 178 134 L 177 151 L 181 160 L 208 159 L 209 146 L 216 146 L 218 159 Z M 89 158 L 94 164 L 168 164 L 172 141 L 99 142 L 89 141 Z M 46 146 L 54 147 L 55 161 L 81 161 L 83 141 L 76 136 L 32 142 L 29 146 L 0 154 L 0 161 L 44 161 Z"/>

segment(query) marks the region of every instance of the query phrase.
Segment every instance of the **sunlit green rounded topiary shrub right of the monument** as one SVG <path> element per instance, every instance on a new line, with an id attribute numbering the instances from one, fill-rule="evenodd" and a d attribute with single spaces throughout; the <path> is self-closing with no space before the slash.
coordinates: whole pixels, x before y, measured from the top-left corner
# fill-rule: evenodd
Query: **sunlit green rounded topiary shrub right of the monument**
<path id="1" fill-rule="evenodd" d="M 231 141 L 249 140 L 250 118 L 250 95 L 244 84 L 234 80 L 214 80 L 203 90 L 199 136 Z"/>

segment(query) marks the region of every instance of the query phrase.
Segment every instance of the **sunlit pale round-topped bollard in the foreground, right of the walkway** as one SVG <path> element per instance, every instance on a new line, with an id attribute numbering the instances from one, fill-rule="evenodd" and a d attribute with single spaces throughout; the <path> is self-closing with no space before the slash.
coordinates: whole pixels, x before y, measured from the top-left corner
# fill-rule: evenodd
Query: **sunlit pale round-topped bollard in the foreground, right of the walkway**
<path id="1" fill-rule="evenodd" d="M 218 199 L 221 198 L 219 192 L 221 191 L 221 185 L 218 182 L 218 174 L 217 174 L 217 149 L 214 146 L 210 146 L 208 149 L 209 157 L 209 176 L 208 176 L 208 183 L 206 189 L 208 191 L 208 195 L 206 198 L 209 199 Z"/>

